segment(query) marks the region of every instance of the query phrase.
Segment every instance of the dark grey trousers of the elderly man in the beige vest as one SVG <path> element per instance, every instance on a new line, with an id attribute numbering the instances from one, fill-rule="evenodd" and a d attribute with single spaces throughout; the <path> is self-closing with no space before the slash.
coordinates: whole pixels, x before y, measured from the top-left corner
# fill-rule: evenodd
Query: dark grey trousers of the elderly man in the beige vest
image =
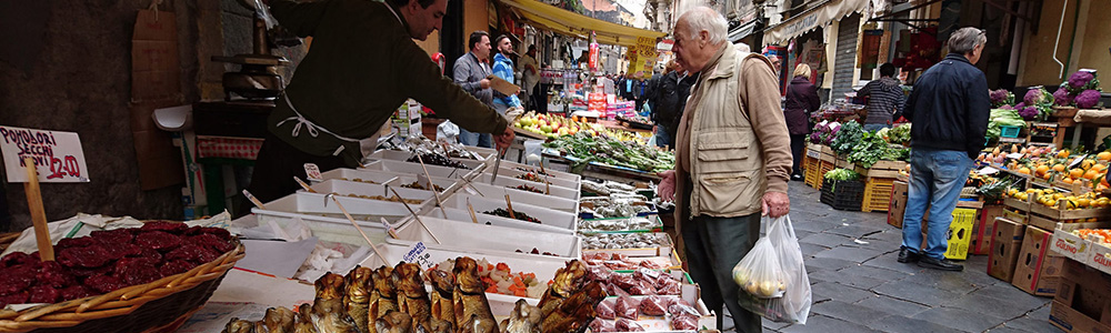
<path id="1" fill-rule="evenodd" d="M 688 181 L 688 184 L 693 185 Z M 684 186 L 685 202 L 690 189 Z M 679 228 L 687 251 L 687 268 L 691 279 L 702 287 L 702 302 L 718 314 L 718 330 L 722 330 L 722 305 L 733 315 L 737 332 L 762 331 L 760 315 L 741 307 L 733 282 L 733 265 L 749 253 L 760 239 L 760 213 L 737 218 L 699 215 Z"/>

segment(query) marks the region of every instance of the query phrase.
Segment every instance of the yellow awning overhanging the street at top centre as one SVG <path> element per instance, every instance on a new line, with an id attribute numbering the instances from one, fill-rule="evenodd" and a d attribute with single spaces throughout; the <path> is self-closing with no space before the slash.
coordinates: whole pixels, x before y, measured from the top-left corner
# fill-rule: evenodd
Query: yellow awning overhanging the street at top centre
<path id="1" fill-rule="evenodd" d="M 657 39 L 667 36 L 664 32 L 581 16 L 537 0 L 501 0 L 501 3 L 516 9 L 523 19 L 540 29 L 583 39 L 590 37 L 590 31 L 594 31 L 598 42 L 602 44 L 633 47 L 637 46 L 638 37 Z"/>

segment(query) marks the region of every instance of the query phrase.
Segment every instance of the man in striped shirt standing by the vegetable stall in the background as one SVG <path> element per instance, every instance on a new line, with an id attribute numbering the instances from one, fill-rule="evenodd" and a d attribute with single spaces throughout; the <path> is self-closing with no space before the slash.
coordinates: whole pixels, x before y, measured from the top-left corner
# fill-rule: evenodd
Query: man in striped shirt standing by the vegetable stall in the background
<path id="1" fill-rule="evenodd" d="M 895 67 L 891 63 L 880 65 L 880 79 L 864 84 L 860 89 L 860 95 L 868 98 L 868 118 L 864 119 L 865 131 L 879 131 L 890 128 L 892 117 L 902 113 L 907 97 L 902 92 L 902 85 L 894 79 Z"/>

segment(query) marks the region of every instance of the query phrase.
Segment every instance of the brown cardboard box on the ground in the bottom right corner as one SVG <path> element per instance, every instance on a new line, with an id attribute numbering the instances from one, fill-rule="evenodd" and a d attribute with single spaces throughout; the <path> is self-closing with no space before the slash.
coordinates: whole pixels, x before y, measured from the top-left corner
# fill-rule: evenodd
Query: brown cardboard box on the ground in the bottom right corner
<path id="1" fill-rule="evenodd" d="M 1111 276 L 1065 260 L 1049 321 L 1065 332 L 1111 332 Z"/>

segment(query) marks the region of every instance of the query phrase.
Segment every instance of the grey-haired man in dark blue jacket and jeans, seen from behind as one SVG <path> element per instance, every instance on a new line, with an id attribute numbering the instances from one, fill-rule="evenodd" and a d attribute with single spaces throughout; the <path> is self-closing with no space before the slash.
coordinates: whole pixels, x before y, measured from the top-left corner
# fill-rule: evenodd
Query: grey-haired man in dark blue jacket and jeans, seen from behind
<path id="1" fill-rule="evenodd" d="M 945 260 L 945 233 L 972 161 L 984 145 L 991 102 L 988 79 L 974 64 L 987 43 L 983 30 L 957 30 L 949 38 L 949 56 L 914 83 L 903 113 L 914 127 L 899 262 L 943 271 L 964 269 Z M 928 206 L 929 234 L 923 250 L 922 215 Z"/>

